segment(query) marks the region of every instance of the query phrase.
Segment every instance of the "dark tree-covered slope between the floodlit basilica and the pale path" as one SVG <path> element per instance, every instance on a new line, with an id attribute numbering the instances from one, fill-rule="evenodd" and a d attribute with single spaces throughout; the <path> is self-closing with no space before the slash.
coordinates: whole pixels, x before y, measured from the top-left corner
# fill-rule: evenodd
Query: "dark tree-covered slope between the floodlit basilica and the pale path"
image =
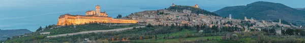
<path id="1" fill-rule="evenodd" d="M 130 25 L 121 24 L 121 25 L 117 25 L 117 26 L 108 26 L 108 25 L 98 24 L 98 23 L 89 23 L 89 24 L 82 24 L 82 25 L 75 25 L 75 26 L 69 25 L 69 26 L 61 26 L 61 27 L 54 27 L 54 28 L 46 28 L 42 31 L 37 31 L 37 32 L 34 32 L 34 33 L 51 32 L 50 35 L 56 35 L 56 34 L 74 33 L 74 32 L 80 32 L 80 31 L 125 28 L 125 27 L 132 27 L 132 26 L 140 26 L 140 25 L 138 25 L 138 24 L 130 24 Z"/>

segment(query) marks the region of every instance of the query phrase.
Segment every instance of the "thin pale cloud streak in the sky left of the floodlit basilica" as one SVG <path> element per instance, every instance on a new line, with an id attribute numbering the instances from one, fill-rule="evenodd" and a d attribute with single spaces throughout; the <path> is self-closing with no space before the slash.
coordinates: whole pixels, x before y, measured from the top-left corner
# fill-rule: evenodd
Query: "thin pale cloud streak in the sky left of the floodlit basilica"
<path id="1" fill-rule="evenodd" d="M 79 11 L 79 10 L 69 10 L 69 11 L 60 11 L 60 12 L 49 12 L 49 13 L 36 14 L 36 15 L 29 15 L 29 16 L 21 16 L 21 17 L 4 17 L 4 18 L 0 18 L 0 20 L 4 20 L 4 19 L 27 18 L 27 17 L 34 17 L 34 16 L 40 16 L 40 15 L 55 14 L 55 13 L 64 13 L 64 12 L 73 12 L 73 11 Z"/>

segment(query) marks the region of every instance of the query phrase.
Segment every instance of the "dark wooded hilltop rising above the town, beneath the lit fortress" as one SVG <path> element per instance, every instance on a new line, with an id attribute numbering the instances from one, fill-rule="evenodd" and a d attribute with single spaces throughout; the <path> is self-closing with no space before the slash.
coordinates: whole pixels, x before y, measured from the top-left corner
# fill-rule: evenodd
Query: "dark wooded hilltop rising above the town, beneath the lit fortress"
<path id="1" fill-rule="evenodd" d="M 205 14 L 205 15 L 215 15 L 215 16 L 219 16 L 216 13 L 204 10 L 204 9 L 200 9 L 200 8 L 195 8 L 192 6 L 184 6 L 184 5 L 176 5 L 176 6 L 170 6 L 167 8 L 168 10 L 171 11 L 175 11 L 177 10 L 178 12 L 182 12 L 182 10 L 187 9 L 187 10 L 192 10 L 192 13 L 201 13 L 201 14 Z"/>

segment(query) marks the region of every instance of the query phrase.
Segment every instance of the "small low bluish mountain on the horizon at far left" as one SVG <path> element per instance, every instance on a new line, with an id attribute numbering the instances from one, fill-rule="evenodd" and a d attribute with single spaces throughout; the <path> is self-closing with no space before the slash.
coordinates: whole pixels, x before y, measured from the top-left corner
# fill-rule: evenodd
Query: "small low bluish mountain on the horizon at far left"
<path id="1" fill-rule="evenodd" d="M 0 40 L 6 40 L 8 37 L 19 36 L 24 33 L 31 33 L 32 31 L 28 29 L 8 29 L 1 30 L 0 29 Z"/>

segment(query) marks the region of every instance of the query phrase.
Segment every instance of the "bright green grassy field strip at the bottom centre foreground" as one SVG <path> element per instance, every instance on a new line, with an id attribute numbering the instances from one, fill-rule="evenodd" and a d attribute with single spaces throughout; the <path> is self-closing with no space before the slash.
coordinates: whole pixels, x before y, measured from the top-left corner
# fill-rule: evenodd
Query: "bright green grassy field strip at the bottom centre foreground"
<path id="1" fill-rule="evenodd" d="M 221 37 L 223 36 L 205 36 L 205 37 L 188 37 L 188 38 L 182 38 L 184 40 L 190 40 L 190 41 L 195 41 L 195 40 L 199 40 L 199 39 L 218 39 L 220 40 Z M 153 40 L 153 39 L 143 39 L 143 40 L 132 40 L 132 41 L 138 41 L 138 42 L 176 42 L 179 41 L 179 38 L 173 38 L 173 39 L 157 39 L 157 40 Z M 216 41 L 216 40 L 212 40 L 212 41 Z"/>

